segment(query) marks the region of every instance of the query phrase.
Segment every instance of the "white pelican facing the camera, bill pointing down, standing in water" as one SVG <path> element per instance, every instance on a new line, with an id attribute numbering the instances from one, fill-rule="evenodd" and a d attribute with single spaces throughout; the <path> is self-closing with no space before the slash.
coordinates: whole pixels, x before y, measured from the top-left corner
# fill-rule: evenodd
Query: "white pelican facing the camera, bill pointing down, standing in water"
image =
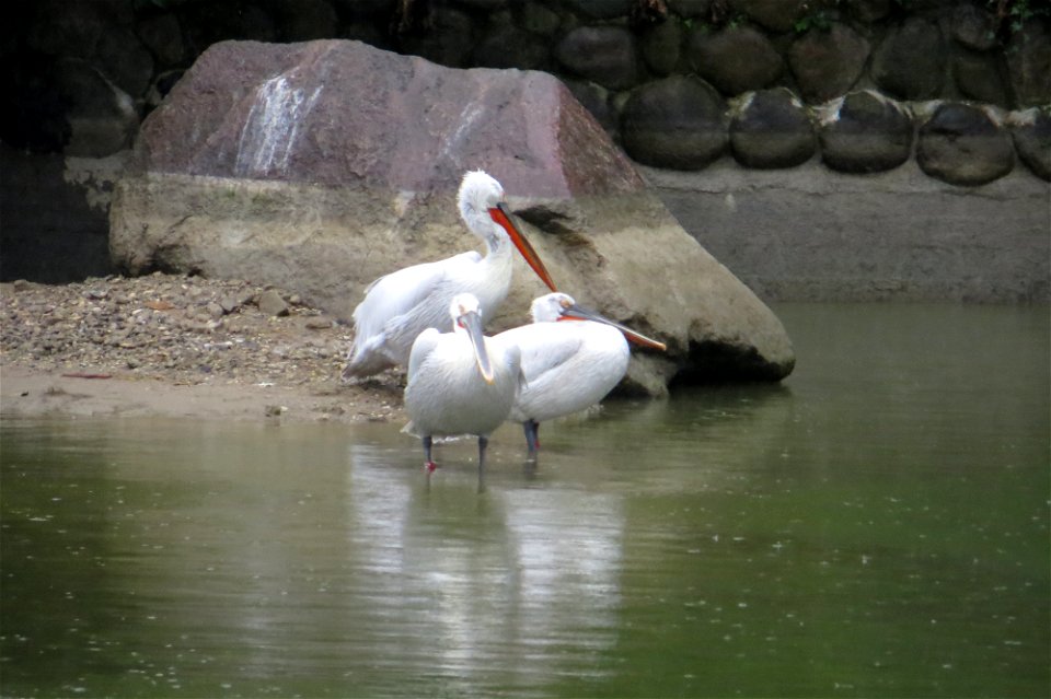
<path id="1" fill-rule="evenodd" d="M 427 328 L 413 342 L 405 386 L 412 421 L 405 431 L 423 440 L 428 473 L 437 468 L 432 436 L 477 435 L 481 484 L 489 434 L 507 420 L 518 394 L 521 356 L 513 345 L 483 336 L 480 302 L 472 294 L 457 294 L 449 315 L 452 333 Z"/>

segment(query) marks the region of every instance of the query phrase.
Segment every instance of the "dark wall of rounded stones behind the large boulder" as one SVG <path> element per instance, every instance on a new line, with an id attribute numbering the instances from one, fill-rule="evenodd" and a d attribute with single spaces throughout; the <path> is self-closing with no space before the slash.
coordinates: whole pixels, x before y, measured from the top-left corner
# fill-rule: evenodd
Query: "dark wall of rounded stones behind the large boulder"
<path id="1" fill-rule="evenodd" d="M 1051 13 L 1038 0 L 42 0 L 8 12 L 5 202 L 14 153 L 125 151 L 227 38 L 358 38 L 446 66 L 553 72 L 661 170 L 734 162 L 790 177 L 820 163 L 855 176 L 912 162 L 950 188 L 1051 180 Z M 32 261 L 32 226 L 5 221 L 19 255 L 4 278 Z"/>

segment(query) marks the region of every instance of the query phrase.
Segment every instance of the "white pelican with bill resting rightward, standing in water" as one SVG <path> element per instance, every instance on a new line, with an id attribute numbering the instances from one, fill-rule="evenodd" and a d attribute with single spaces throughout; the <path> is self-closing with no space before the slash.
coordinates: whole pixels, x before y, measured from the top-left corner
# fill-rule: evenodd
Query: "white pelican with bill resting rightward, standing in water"
<path id="1" fill-rule="evenodd" d="M 505 330 L 494 339 L 521 351 L 526 387 L 509 419 L 522 423 L 529 458 L 534 459 L 540 422 L 594 405 L 624 377 L 631 356 L 625 337 L 644 347 L 666 348 L 663 342 L 578 306 L 568 294 L 540 296 L 530 313 L 531 325 Z"/>

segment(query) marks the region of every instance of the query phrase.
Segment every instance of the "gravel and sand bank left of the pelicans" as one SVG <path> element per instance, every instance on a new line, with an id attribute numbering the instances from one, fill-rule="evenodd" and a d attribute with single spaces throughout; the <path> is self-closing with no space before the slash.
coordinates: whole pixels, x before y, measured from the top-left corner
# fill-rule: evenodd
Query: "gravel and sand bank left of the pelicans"
<path id="1" fill-rule="evenodd" d="M 280 289 L 158 272 L 62 286 L 15 281 L 0 284 L 0 301 L 8 415 L 82 413 L 91 404 L 83 398 L 94 397 L 101 405 L 86 408 L 91 415 L 403 417 L 403 378 L 343 384 L 350 328 Z M 42 391 L 50 399 L 34 401 Z M 196 411 L 185 396 L 196 398 Z"/>

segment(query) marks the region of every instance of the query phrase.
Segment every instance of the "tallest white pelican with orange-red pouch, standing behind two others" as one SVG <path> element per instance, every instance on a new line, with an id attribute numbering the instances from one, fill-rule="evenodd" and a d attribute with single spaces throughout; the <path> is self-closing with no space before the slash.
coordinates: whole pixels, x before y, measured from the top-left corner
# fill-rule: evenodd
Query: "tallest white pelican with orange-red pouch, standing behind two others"
<path id="1" fill-rule="evenodd" d="M 344 378 L 404 366 L 417 335 L 431 327 L 449 329 L 449 302 L 460 292 L 474 294 L 482 314 L 493 317 L 511 283 L 510 244 L 555 291 L 543 261 L 515 226 L 500 183 L 481 170 L 469 172 L 460 185 L 458 203 L 463 222 L 485 242 L 485 257 L 471 251 L 406 267 L 373 281 L 354 310 L 355 337 Z"/>

